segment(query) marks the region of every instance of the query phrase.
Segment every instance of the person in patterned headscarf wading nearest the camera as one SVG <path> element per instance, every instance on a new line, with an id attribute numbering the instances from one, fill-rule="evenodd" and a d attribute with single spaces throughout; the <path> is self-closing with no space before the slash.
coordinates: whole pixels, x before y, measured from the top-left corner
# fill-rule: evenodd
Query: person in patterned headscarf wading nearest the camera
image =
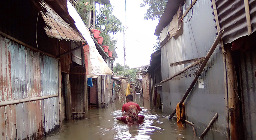
<path id="1" fill-rule="evenodd" d="M 127 112 L 128 116 L 117 117 L 116 119 L 128 124 L 129 126 L 142 124 L 145 116 L 138 115 L 138 107 L 136 105 L 130 105 Z"/>

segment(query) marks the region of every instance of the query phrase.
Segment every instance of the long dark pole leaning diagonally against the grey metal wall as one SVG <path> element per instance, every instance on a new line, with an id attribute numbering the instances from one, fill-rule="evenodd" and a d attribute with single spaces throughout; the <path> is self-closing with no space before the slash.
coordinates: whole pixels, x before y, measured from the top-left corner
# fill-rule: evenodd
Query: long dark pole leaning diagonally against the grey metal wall
<path id="1" fill-rule="evenodd" d="M 192 90 L 192 88 L 194 87 L 194 85 L 195 85 L 195 83 L 197 82 L 198 77 L 201 75 L 201 73 L 202 73 L 202 71 L 203 71 L 203 69 L 204 69 L 204 67 L 205 67 L 205 65 L 206 65 L 206 63 L 207 63 L 207 61 L 210 59 L 210 56 L 213 54 L 213 52 L 214 52 L 216 46 L 218 45 L 218 43 L 219 43 L 219 41 L 220 41 L 220 38 L 222 37 L 222 34 L 223 34 L 223 30 L 221 30 L 221 31 L 218 33 L 218 35 L 217 35 L 215 41 L 213 42 L 213 45 L 212 45 L 212 47 L 210 48 L 209 52 L 207 53 L 207 55 L 206 55 L 206 57 L 205 57 L 205 59 L 204 59 L 202 65 L 199 67 L 198 71 L 196 71 L 196 73 L 195 73 L 196 75 L 195 75 L 194 80 L 192 81 L 192 83 L 190 84 L 189 88 L 187 89 L 187 91 L 186 91 L 185 94 L 183 95 L 182 99 L 180 100 L 179 105 L 182 105 L 183 102 L 185 101 L 185 99 L 188 97 L 189 92 L 190 92 L 190 91 Z M 171 115 L 169 116 L 169 119 L 171 119 L 172 116 L 174 116 L 175 113 L 176 113 L 176 109 L 174 109 L 174 111 L 171 113 Z"/>

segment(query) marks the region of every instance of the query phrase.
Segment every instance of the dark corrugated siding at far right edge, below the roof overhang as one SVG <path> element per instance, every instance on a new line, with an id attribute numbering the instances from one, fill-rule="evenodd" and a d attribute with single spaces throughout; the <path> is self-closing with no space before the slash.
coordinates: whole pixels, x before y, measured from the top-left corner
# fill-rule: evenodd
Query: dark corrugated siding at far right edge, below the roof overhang
<path id="1" fill-rule="evenodd" d="M 243 122 L 246 139 L 256 139 L 256 49 L 240 54 Z"/>

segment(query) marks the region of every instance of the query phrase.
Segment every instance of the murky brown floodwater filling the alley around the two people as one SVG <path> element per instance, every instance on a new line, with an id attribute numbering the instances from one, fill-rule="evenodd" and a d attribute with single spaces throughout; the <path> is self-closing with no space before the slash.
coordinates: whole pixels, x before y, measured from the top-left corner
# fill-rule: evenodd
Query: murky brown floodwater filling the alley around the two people
<path id="1" fill-rule="evenodd" d="M 174 140 L 197 140 L 190 129 L 179 129 L 173 120 L 162 114 L 159 109 L 153 109 L 152 104 L 144 100 L 140 94 L 133 94 L 134 102 L 142 107 L 139 113 L 145 116 L 142 125 L 128 127 L 128 125 L 116 120 L 123 116 L 121 112 L 124 102 L 112 103 L 106 109 L 89 110 L 88 119 L 70 121 L 62 124 L 61 132 L 52 133 L 45 140 L 68 140 L 68 139 L 174 139 Z"/>

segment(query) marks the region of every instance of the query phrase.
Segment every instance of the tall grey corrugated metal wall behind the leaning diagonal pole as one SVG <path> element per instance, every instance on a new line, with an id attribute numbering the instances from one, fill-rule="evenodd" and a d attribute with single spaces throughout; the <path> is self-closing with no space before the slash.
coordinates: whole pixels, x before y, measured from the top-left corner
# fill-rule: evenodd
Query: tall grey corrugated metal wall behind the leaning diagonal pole
<path id="1" fill-rule="evenodd" d="M 186 5 L 189 5 L 190 2 L 190 0 L 187 0 Z M 188 63 L 170 67 L 170 63 L 204 57 L 209 51 L 216 38 L 217 31 L 214 28 L 216 23 L 213 21 L 211 5 L 210 0 L 198 0 L 193 6 L 193 15 L 192 10 L 190 10 L 183 19 L 187 21 L 192 15 L 188 23 L 183 22 L 183 30 L 180 30 L 180 35 L 171 38 L 162 47 L 162 80 L 189 65 Z M 184 5 L 183 13 L 185 10 Z M 167 69 L 169 75 L 165 72 Z M 163 110 L 165 112 L 171 113 L 176 108 L 177 103 L 194 79 L 194 72 L 197 69 L 198 66 L 192 67 L 169 82 L 162 84 Z M 219 45 L 200 77 L 204 80 L 204 88 L 199 89 L 197 83 L 185 101 L 187 119 L 195 124 L 199 134 L 207 127 L 214 114 L 216 112 L 219 114 L 219 118 L 212 127 L 213 130 L 209 131 L 204 139 L 226 138 L 227 122 L 223 77 L 223 57 Z"/>

